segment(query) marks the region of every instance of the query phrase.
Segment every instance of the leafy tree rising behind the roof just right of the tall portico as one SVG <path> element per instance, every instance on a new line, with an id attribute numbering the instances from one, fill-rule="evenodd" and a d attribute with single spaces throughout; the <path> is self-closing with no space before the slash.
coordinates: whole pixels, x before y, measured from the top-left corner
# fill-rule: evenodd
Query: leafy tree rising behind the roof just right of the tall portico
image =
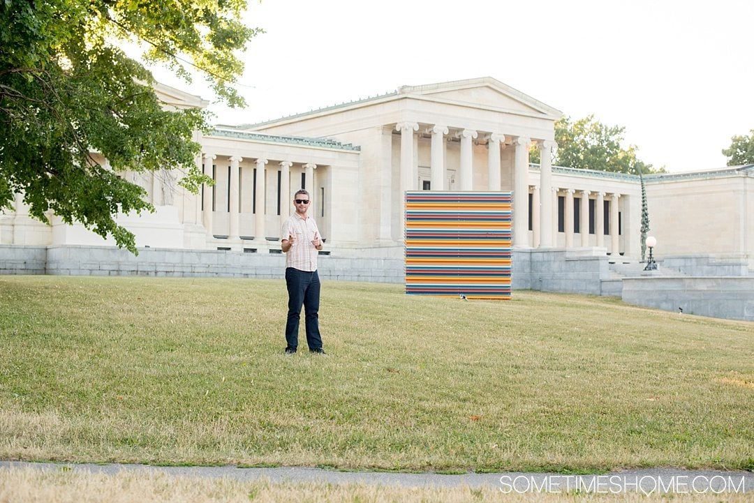
<path id="1" fill-rule="evenodd" d="M 636 157 L 636 146 L 624 148 L 624 127 L 605 126 L 593 115 L 573 121 L 563 116 L 555 122 L 553 164 L 576 169 L 596 169 L 621 173 L 664 172 Z M 539 150 L 532 149 L 530 160 L 539 162 Z"/>

